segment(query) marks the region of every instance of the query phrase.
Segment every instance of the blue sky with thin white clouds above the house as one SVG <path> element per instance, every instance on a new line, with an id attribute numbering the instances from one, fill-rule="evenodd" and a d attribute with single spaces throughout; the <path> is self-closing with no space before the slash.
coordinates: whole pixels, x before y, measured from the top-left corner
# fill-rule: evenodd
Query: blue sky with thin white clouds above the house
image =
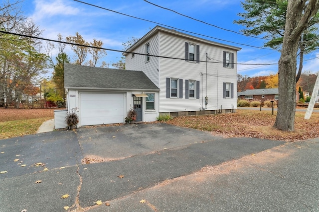
<path id="1" fill-rule="evenodd" d="M 182 30 L 239 43 L 235 44 L 195 35 L 242 48 L 238 52 L 237 62 L 240 64 L 277 64 L 280 58 L 280 53 L 275 50 L 241 45 L 263 47 L 264 40 L 262 39 L 222 30 L 162 9 L 144 0 L 82 1 Z M 234 20 L 240 18 L 238 13 L 244 12 L 239 0 L 149 1 L 228 30 L 240 32 L 241 29 L 244 29 L 243 26 L 233 23 Z M 103 41 L 104 48 L 116 50 L 123 49 L 123 42 L 130 40 L 132 37 L 141 38 L 157 25 L 74 0 L 24 0 L 21 10 L 24 16 L 32 18 L 40 29 L 44 30 L 42 33 L 43 38 L 56 40 L 59 33 L 66 37 L 79 32 L 88 42 L 93 41 L 93 38 L 95 38 Z M 69 53 L 72 60 L 71 50 L 67 53 Z M 103 60 L 108 64 L 112 64 L 117 62 L 121 56 L 121 53 L 107 51 L 107 56 Z M 307 55 L 305 59 L 316 57 L 319 57 L 319 51 Z M 304 62 L 303 70 L 317 72 L 319 71 L 318 67 L 319 59 L 315 59 Z M 110 65 L 109 68 L 113 67 Z M 238 73 L 248 76 L 269 75 L 277 73 L 277 71 L 278 65 L 238 65 Z"/>

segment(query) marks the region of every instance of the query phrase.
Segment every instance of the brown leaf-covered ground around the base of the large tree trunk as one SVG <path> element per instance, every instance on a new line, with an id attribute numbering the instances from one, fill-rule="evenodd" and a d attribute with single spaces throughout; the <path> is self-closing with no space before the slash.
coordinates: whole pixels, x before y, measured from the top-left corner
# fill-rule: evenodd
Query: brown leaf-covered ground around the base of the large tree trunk
<path id="1" fill-rule="evenodd" d="M 236 113 L 207 116 L 176 117 L 167 124 L 210 131 L 224 137 L 249 137 L 281 141 L 302 141 L 319 138 L 319 113 L 305 120 L 306 112 L 297 112 L 295 131 L 283 132 L 272 126 L 276 113 L 271 111 L 237 110 Z"/>

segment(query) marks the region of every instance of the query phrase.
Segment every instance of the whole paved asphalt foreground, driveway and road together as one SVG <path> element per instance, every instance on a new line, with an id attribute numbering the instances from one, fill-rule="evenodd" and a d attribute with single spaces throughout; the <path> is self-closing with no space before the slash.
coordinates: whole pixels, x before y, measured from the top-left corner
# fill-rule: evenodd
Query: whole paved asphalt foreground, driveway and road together
<path id="1" fill-rule="evenodd" d="M 0 212 L 319 211 L 319 139 L 137 124 L 0 140 L 0 152 Z"/>

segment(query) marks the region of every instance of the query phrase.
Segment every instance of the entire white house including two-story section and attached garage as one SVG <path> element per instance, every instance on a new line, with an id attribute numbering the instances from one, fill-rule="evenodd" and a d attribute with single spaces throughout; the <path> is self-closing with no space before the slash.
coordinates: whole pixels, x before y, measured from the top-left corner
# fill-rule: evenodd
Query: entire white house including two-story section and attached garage
<path id="1" fill-rule="evenodd" d="M 123 123 L 130 108 L 142 122 L 231 112 L 239 50 L 156 26 L 123 53 L 127 70 L 65 64 L 67 108 L 78 108 L 78 127 Z"/>

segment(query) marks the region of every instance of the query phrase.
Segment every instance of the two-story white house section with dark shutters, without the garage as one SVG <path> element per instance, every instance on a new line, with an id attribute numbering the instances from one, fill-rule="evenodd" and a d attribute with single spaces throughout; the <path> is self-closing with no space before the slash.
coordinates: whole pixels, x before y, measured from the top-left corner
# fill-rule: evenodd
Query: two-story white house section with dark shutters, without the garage
<path id="1" fill-rule="evenodd" d="M 160 88 L 159 113 L 184 116 L 237 109 L 240 49 L 156 26 L 123 55 Z"/>

